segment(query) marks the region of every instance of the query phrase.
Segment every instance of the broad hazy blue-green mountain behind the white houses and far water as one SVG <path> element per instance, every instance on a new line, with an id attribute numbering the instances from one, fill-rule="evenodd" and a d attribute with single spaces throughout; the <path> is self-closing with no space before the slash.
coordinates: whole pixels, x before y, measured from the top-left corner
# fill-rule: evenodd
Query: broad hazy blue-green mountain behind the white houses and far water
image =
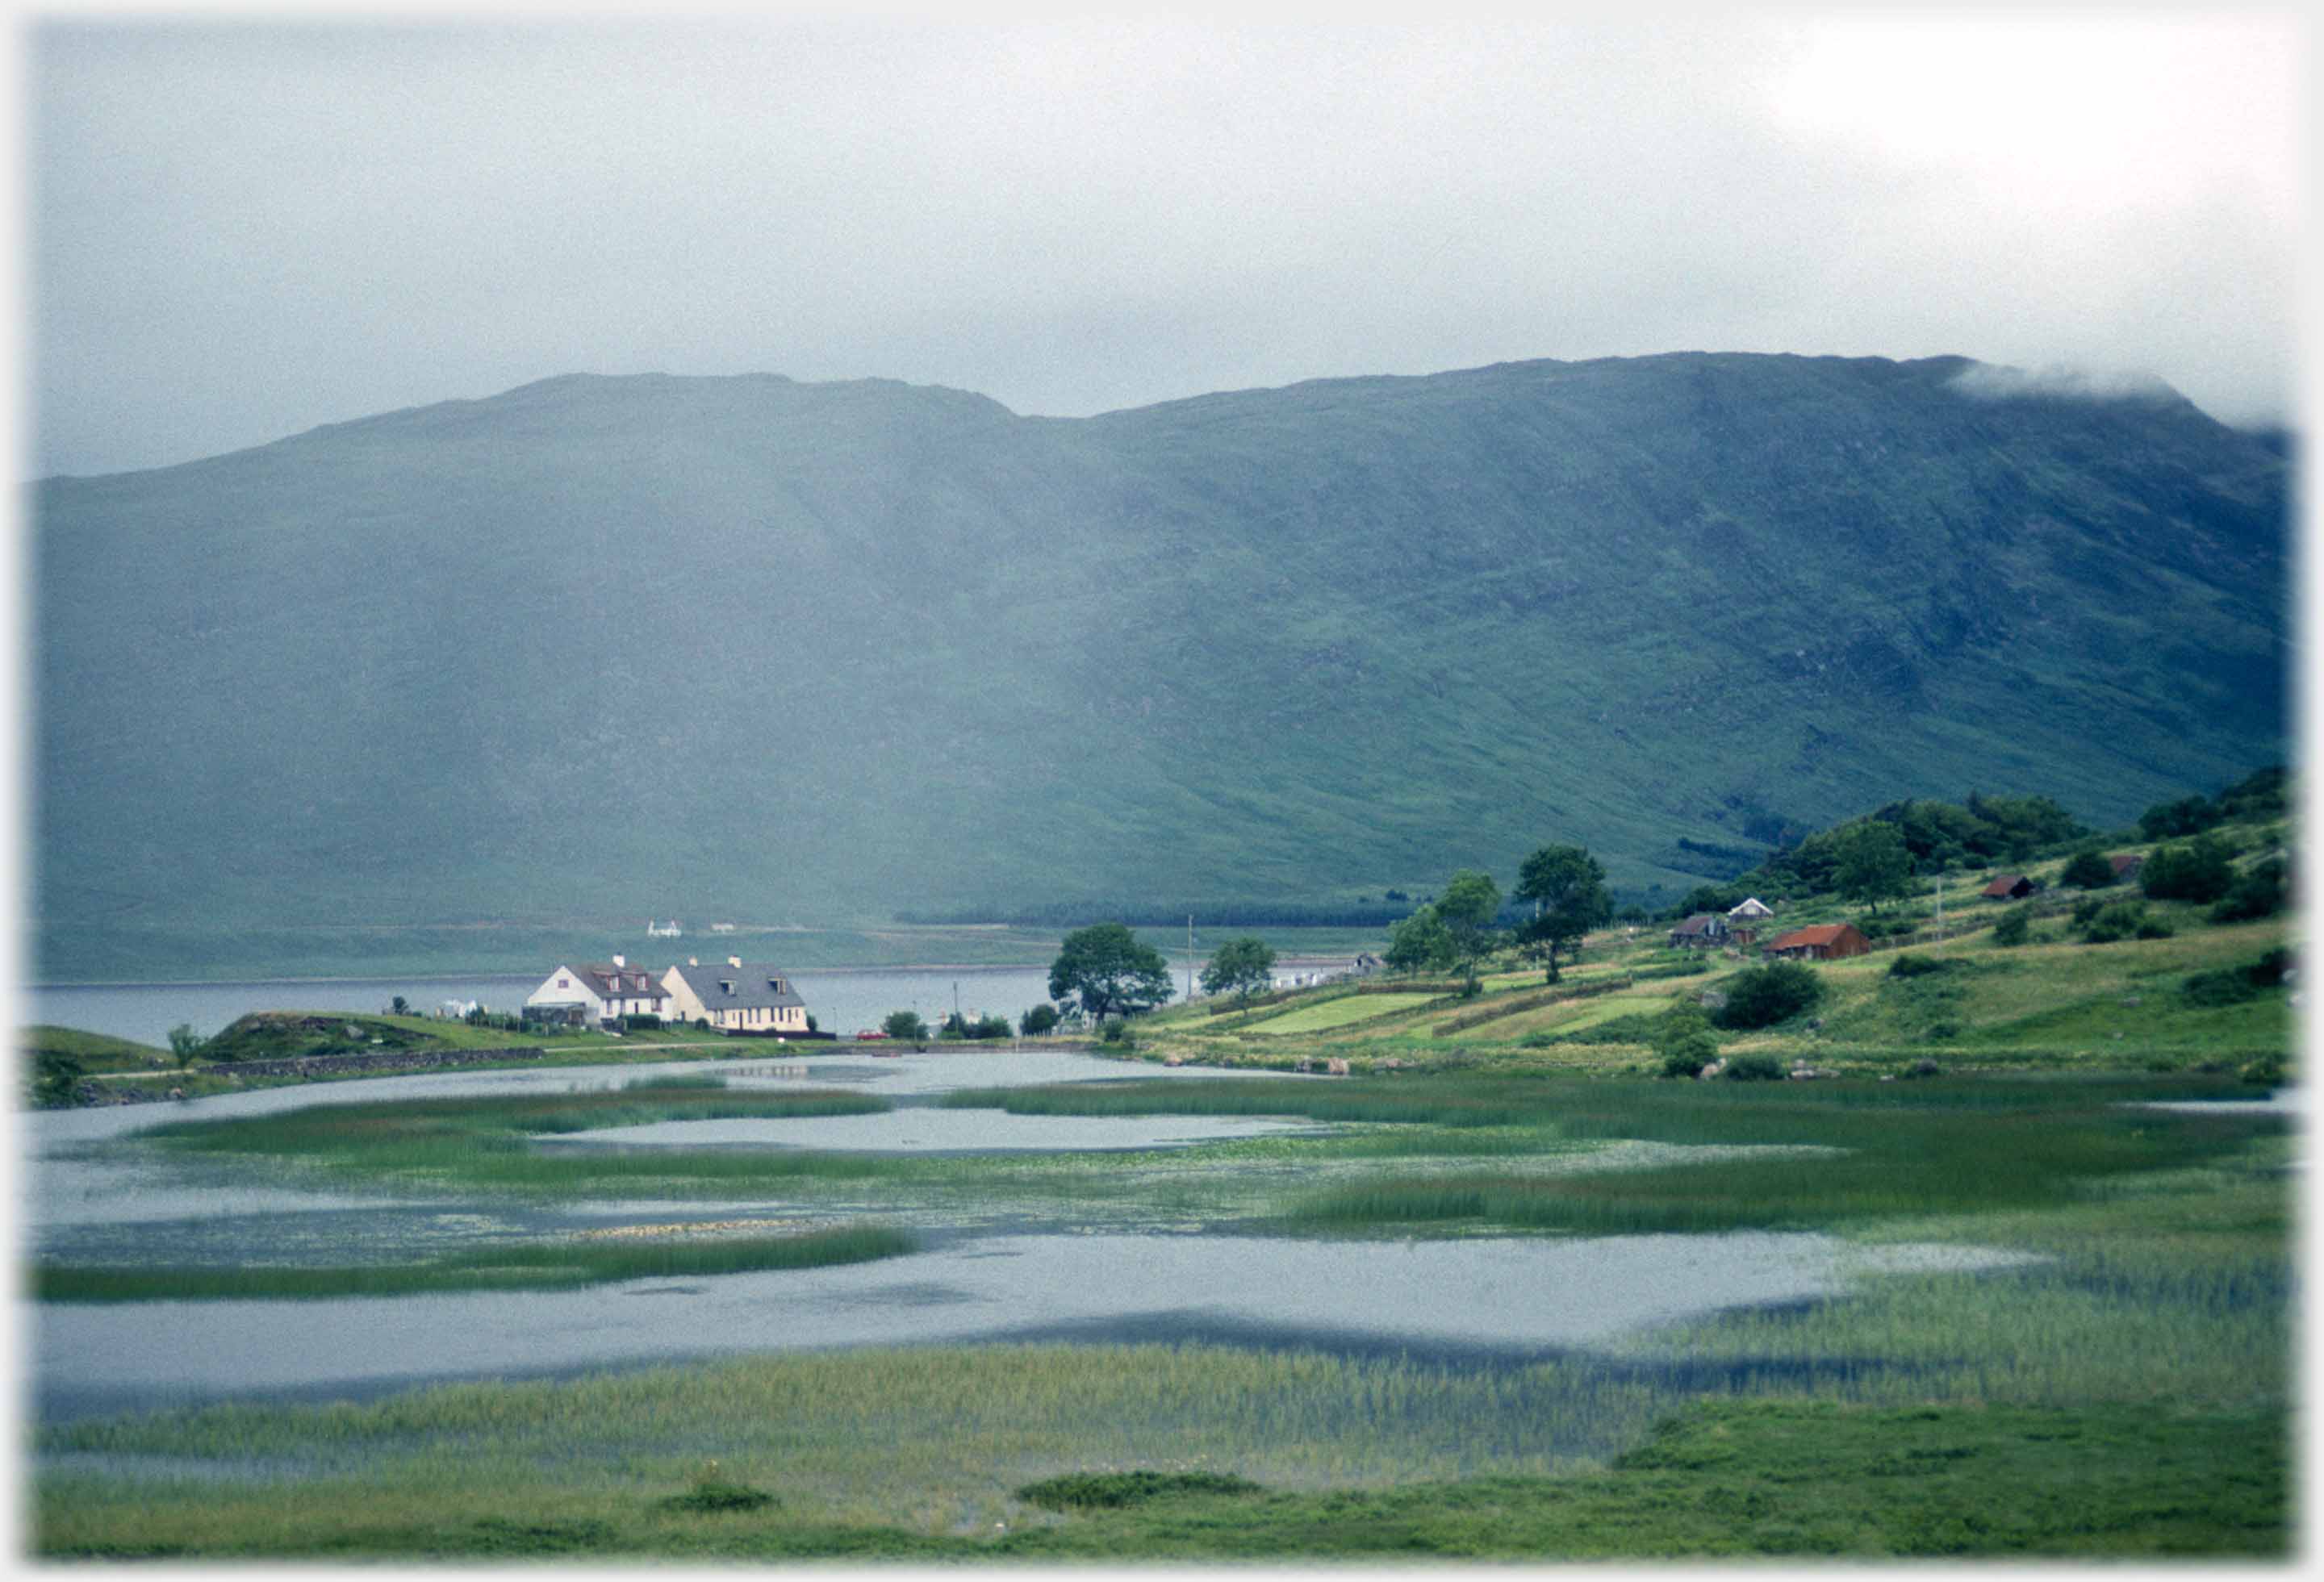
<path id="1" fill-rule="evenodd" d="M 30 490 L 44 973 L 107 929 L 1322 899 L 2282 755 L 2185 400 L 1673 353 L 1018 418 L 548 379 Z M 1996 381 L 1985 381 L 1996 383 Z M 1734 864 L 1741 866 L 1741 864 Z"/>

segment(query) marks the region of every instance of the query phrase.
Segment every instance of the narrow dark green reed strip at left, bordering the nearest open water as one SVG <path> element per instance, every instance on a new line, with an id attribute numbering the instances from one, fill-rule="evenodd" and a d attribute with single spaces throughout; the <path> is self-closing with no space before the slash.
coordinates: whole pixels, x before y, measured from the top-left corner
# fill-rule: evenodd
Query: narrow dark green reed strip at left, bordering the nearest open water
<path id="1" fill-rule="evenodd" d="M 767 1268 L 825 1268 L 913 1252 L 918 1243 L 888 1227 L 834 1227 L 802 1236 L 716 1236 L 702 1241 L 588 1241 L 467 1247 L 425 1264 L 244 1264 L 235 1268 L 86 1268 L 35 1264 L 40 1301 L 228 1301 L 416 1296 L 425 1292 L 521 1292 L 739 1275 Z"/>

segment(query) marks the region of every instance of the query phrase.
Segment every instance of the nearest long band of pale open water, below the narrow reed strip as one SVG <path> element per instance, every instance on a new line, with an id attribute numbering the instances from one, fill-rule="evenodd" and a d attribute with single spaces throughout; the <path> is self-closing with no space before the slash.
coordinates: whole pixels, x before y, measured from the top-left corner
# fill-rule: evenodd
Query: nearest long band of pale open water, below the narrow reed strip
<path id="1" fill-rule="evenodd" d="M 2001 1268 L 1959 1245 L 1808 1234 L 1592 1241 L 992 1236 L 906 1259 L 579 1292 L 376 1301 L 46 1308 L 33 1326 L 49 1417 L 239 1392 L 379 1387 L 653 1359 L 925 1345 L 1206 1322 L 1515 1354 L 1606 1343 L 1736 1303 L 1903 1268 Z M 658 1301 L 637 1301 L 641 1292 Z M 188 1345 L 188 1336 L 200 1336 Z"/>

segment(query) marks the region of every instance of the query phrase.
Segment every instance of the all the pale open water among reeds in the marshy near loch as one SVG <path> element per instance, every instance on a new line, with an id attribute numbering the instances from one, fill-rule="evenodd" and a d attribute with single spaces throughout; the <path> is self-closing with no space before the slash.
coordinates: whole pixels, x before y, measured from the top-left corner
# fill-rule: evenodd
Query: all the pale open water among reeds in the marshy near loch
<path id="1" fill-rule="evenodd" d="M 1176 1148 L 1313 1122 L 1009 1117 L 927 1108 L 953 1087 L 1043 1080 L 1232 1080 L 1090 1055 L 960 1050 L 897 1059 L 686 1062 L 490 1071 L 277 1087 L 179 1106 L 26 1117 L 33 1252 L 72 1261 L 346 1261 L 469 1236 L 572 1236 L 623 1224 L 797 1222 L 786 1203 L 416 1201 L 237 1182 L 193 1164 L 123 1157 L 137 1129 L 400 1096 L 602 1090 L 653 1071 L 725 1073 L 737 1087 L 851 1085 L 885 1115 L 669 1122 L 565 1138 L 569 1148 L 862 1152 Z M 1327 1078 L 1313 1078 L 1327 1080 Z M 1034 1124 L 1039 1122 L 1039 1124 Z M 730 1131 L 704 1131 L 730 1129 Z M 1025 1338 L 1220 1338 L 1543 1357 L 1741 1303 L 1843 1289 L 1889 1268 L 1994 1268 L 1978 1247 L 1862 1247 L 1813 1234 L 1290 1241 L 976 1222 L 925 1224 L 923 1250 L 874 1264 L 627 1280 L 567 1292 L 330 1301 L 21 1306 L 33 1405 L 44 1419 L 244 1394 L 349 1396 L 453 1380 L 551 1375 L 779 1347 Z"/>

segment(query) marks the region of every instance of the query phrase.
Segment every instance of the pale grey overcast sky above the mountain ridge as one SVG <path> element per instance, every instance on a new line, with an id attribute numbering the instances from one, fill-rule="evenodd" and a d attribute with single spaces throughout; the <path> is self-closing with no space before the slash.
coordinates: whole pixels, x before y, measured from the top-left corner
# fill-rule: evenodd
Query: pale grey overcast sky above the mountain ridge
<path id="1" fill-rule="evenodd" d="M 1655 351 L 2298 390 L 2296 9 L 23 35 L 23 469 L 565 372 L 1090 414 Z"/>

